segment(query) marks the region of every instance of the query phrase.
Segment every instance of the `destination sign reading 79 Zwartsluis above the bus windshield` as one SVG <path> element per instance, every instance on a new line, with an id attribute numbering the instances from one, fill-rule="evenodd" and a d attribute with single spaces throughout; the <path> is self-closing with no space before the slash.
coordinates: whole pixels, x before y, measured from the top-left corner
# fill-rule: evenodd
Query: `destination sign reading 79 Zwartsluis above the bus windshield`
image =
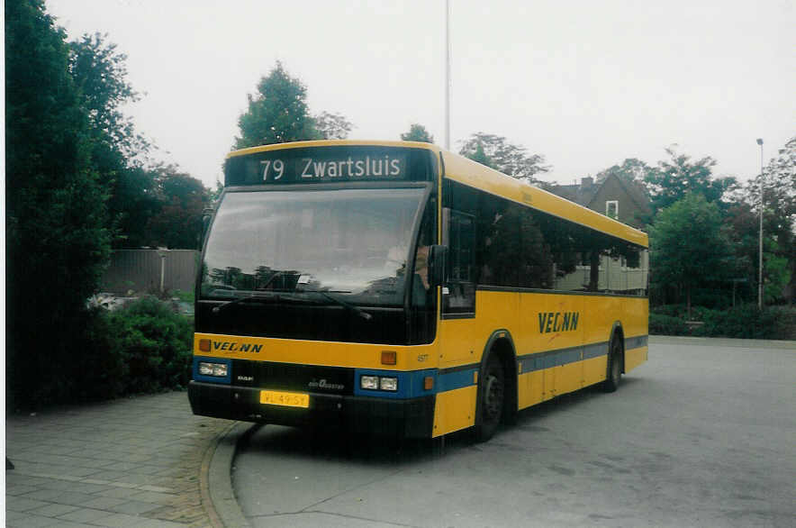
<path id="1" fill-rule="evenodd" d="M 422 154 L 425 162 L 418 167 Z M 429 154 L 374 147 L 268 150 L 228 159 L 226 185 L 422 181 L 430 176 Z"/>

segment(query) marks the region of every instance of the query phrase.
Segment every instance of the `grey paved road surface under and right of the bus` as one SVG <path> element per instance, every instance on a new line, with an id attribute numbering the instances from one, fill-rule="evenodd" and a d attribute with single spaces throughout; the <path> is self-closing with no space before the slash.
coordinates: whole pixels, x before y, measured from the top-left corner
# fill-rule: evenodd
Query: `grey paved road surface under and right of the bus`
<path id="1" fill-rule="evenodd" d="M 441 454 L 266 426 L 233 486 L 254 526 L 793 526 L 794 410 L 796 343 L 656 340 L 617 393 Z"/>

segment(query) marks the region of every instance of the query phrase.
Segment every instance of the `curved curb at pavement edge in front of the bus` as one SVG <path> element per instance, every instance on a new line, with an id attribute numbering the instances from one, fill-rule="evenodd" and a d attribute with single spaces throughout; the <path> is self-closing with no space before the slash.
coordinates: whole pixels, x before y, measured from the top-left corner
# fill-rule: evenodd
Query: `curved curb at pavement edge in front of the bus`
<path id="1" fill-rule="evenodd" d="M 232 490 L 232 460 L 239 442 L 248 439 L 256 427 L 257 424 L 233 422 L 204 451 L 199 488 L 204 511 L 215 528 L 249 526 Z"/>

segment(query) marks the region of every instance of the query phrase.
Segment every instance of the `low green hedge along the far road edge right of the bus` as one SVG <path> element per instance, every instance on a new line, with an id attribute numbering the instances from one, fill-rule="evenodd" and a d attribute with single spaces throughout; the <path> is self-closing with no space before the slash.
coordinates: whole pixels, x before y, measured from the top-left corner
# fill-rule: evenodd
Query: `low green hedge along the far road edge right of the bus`
<path id="1" fill-rule="evenodd" d="M 738 339 L 796 340 L 796 308 L 791 306 L 741 305 L 728 310 L 692 307 L 691 321 L 685 323 L 684 305 L 657 306 L 649 314 L 649 332 L 660 335 L 692 335 Z"/>

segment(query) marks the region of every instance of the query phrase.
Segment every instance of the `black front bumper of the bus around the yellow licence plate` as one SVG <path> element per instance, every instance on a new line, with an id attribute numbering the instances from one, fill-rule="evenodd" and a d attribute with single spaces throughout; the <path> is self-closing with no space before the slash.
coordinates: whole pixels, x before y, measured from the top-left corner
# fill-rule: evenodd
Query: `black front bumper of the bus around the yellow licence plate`
<path id="1" fill-rule="evenodd" d="M 379 436 L 430 438 L 435 396 L 386 399 L 310 393 L 308 408 L 263 405 L 260 389 L 191 381 L 188 399 L 194 414 L 292 426 L 322 426 Z"/>

